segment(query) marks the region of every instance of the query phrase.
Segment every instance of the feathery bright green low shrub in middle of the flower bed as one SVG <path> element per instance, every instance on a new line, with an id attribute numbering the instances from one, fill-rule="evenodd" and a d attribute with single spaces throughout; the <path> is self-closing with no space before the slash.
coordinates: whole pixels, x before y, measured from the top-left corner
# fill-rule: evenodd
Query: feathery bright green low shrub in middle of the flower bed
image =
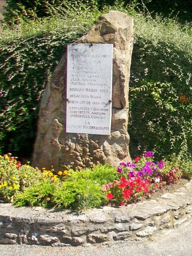
<path id="1" fill-rule="evenodd" d="M 52 182 L 44 175 L 45 180 L 19 193 L 14 199 L 14 204 L 71 208 L 77 211 L 97 207 L 107 200 L 102 192 L 102 184 L 113 181 L 116 172 L 109 165 L 99 165 L 94 170 L 70 170 L 63 182 Z"/>

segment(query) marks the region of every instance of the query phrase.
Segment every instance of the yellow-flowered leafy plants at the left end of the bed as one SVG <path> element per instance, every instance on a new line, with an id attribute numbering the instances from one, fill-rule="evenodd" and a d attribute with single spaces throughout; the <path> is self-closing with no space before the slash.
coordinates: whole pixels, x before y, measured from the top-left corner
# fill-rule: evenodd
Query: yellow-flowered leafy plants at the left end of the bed
<path id="1" fill-rule="evenodd" d="M 0 198 L 12 202 L 19 191 L 42 179 L 41 171 L 21 165 L 11 155 L 0 156 Z"/>

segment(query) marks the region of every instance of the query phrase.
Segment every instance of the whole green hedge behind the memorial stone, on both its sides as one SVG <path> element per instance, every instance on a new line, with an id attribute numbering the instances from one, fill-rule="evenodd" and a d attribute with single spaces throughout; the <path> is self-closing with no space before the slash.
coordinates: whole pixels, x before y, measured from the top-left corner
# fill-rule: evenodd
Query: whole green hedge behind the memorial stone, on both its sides
<path id="1" fill-rule="evenodd" d="M 101 11 L 94 0 L 87 4 L 66 1 L 67 7 L 56 8 L 51 18 L 0 27 L 0 152 L 30 155 L 38 104 L 66 44 L 85 34 L 100 14 L 115 9 L 134 17 L 132 156 L 148 149 L 161 156 L 192 153 L 191 26 L 180 27 L 158 16 L 152 19 L 125 7 L 124 1 L 117 2 L 112 7 L 98 3 Z"/>

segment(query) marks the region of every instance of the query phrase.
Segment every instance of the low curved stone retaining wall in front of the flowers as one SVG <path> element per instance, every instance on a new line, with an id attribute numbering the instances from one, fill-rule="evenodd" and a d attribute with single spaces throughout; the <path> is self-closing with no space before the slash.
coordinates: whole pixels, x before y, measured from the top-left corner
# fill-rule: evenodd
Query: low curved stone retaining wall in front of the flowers
<path id="1" fill-rule="evenodd" d="M 69 210 L 0 204 L 0 244 L 77 246 L 141 240 L 192 217 L 192 182 L 175 193 L 127 207 Z"/>

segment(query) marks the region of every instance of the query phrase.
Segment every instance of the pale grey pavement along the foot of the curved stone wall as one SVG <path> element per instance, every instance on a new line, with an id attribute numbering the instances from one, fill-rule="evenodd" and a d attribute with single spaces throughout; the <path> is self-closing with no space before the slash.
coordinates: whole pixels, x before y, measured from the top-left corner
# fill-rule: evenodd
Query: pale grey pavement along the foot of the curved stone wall
<path id="1" fill-rule="evenodd" d="M 62 248 L 0 245 L 0 256 L 192 256 L 192 220 L 142 242 Z"/>

